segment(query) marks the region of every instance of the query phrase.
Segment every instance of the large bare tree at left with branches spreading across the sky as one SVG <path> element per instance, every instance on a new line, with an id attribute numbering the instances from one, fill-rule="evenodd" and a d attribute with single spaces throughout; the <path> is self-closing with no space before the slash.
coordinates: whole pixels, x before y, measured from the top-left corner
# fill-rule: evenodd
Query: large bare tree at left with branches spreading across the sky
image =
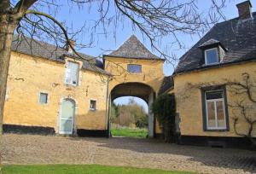
<path id="1" fill-rule="evenodd" d="M 219 19 L 223 19 L 221 9 L 224 8 L 225 0 L 212 0 L 212 6 L 203 14 L 198 8 L 196 0 L 69 0 L 70 6 L 78 6 L 81 10 L 96 5 L 100 18 L 95 26 L 118 26 L 125 19 L 131 21 L 131 25 L 146 36 L 152 47 L 160 53 L 160 56 L 170 58 L 164 51 L 156 46 L 157 38 L 172 36 L 175 43 L 179 42 L 178 34 L 195 34 L 204 32 L 208 26 Z M 14 33 L 29 38 L 50 39 L 56 46 L 68 44 L 74 54 L 79 55 L 71 39 L 83 28 L 73 32 L 65 22 L 55 19 L 55 13 L 61 9 L 58 0 L 1 0 L 0 1 L 0 134 L 3 125 L 3 107 L 6 92 L 6 83 L 9 71 L 9 59 L 11 44 Z M 49 13 L 45 13 L 48 8 Z M 110 9 L 114 10 L 110 13 Z M 125 20 L 126 21 L 126 20 Z M 93 31 L 93 30 L 92 30 Z"/>

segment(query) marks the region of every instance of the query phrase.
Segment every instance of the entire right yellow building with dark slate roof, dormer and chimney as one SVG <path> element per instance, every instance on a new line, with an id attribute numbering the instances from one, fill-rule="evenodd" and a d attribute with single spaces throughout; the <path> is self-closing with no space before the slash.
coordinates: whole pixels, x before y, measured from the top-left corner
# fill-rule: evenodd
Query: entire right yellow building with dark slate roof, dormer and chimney
<path id="1" fill-rule="evenodd" d="M 166 93 L 176 96 L 179 143 L 248 148 L 249 138 L 255 141 L 256 125 L 250 133 L 249 124 L 256 121 L 256 13 L 251 7 L 249 1 L 237 4 L 239 17 L 213 26 L 166 80 Z"/>

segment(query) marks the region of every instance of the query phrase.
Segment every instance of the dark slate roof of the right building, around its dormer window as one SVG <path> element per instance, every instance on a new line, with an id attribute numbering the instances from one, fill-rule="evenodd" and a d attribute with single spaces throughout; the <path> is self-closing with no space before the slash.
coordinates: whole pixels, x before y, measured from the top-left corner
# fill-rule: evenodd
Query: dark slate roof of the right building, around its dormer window
<path id="1" fill-rule="evenodd" d="M 203 63 L 202 45 L 221 44 L 226 49 L 223 61 L 217 65 Z M 251 18 L 235 18 L 216 24 L 179 60 L 174 73 L 220 67 L 241 61 L 256 61 L 256 12 Z"/>

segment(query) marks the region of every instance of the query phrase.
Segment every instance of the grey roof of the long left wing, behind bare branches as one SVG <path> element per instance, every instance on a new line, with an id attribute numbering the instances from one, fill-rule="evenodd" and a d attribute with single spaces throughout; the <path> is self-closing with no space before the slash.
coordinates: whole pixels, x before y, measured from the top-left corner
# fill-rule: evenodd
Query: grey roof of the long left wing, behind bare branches
<path id="1" fill-rule="evenodd" d="M 63 56 L 80 59 L 78 55 L 69 53 L 67 49 L 56 47 L 53 44 L 47 44 L 31 38 L 20 38 L 17 35 L 15 35 L 13 39 L 12 50 L 26 55 L 33 55 L 48 59 L 49 61 L 57 61 L 61 63 L 65 63 Z M 102 66 L 100 66 L 101 63 L 99 63 L 95 57 L 85 55 L 84 53 L 79 53 L 79 55 L 83 57 L 81 60 L 83 61 L 83 69 L 110 75 L 110 73 L 102 69 Z"/>

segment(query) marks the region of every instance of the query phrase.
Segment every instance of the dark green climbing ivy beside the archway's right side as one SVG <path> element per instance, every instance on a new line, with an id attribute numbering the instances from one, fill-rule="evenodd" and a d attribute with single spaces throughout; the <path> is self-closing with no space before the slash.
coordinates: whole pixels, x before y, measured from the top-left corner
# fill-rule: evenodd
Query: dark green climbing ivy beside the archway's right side
<path id="1" fill-rule="evenodd" d="M 176 114 L 174 94 L 162 94 L 158 96 L 152 107 L 152 112 L 160 124 L 165 141 L 174 142 Z"/>

